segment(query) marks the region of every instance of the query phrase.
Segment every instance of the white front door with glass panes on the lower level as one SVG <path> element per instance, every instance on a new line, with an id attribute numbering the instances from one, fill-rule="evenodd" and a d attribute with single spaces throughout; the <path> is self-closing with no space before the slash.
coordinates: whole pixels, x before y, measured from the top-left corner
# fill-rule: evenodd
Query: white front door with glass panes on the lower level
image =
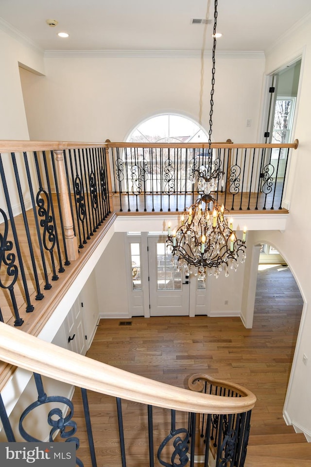
<path id="1" fill-rule="evenodd" d="M 190 279 L 174 269 L 166 238 L 148 237 L 150 315 L 189 316 Z"/>

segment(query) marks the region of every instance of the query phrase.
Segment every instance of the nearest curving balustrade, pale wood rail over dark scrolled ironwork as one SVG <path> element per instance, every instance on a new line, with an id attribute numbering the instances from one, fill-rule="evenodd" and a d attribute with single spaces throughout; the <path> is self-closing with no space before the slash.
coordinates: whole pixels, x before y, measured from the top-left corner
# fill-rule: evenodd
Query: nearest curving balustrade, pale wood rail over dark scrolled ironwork
<path id="1" fill-rule="evenodd" d="M 72 442 L 77 448 L 79 467 L 96 467 L 98 453 L 104 465 L 109 466 L 154 467 L 159 463 L 166 467 L 193 467 L 202 455 L 198 445 L 200 432 L 196 428 L 197 421 L 203 420 L 204 465 L 207 466 L 210 453 L 215 456 L 215 449 L 210 449 L 209 443 L 212 437 L 217 451 L 214 465 L 244 465 L 250 413 L 256 397 L 242 386 L 212 382 L 206 375 L 195 375 L 190 378 L 190 388 L 194 391 L 173 387 L 75 354 L 3 323 L 0 323 L 0 359 L 35 372 L 36 388 L 31 395 L 27 394 L 22 412 L 15 411 L 11 416 L 0 396 L 2 442 Z M 75 415 L 68 397 L 48 391 L 42 376 L 73 384 L 77 391 L 81 388 L 83 414 Z M 204 391 L 207 381 L 212 384 L 211 391 Z M 55 388 L 55 383 L 52 387 Z M 220 389 L 215 394 L 216 387 Z M 98 423 L 101 406 L 89 404 L 88 391 L 116 398 L 101 423 Z M 27 426 L 27 417 L 35 417 L 37 411 L 39 426 L 34 423 Z M 77 423 L 77 417 L 82 426 Z M 92 424 L 94 419 L 96 423 Z M 128 421 L 131 429 L 125 431 Z M 109 431 L 116 432 L 115 443 L 104 449 L 103 434 L 99 435 L 101 441 L 97 444 L 94 440 L 98 435 L 93 433 L 96 434 L 96 429 L 103 433 L 107 426 Z M 84 443 L 80 448 L 81 437 L 87 439 L 87 445 Z"/>

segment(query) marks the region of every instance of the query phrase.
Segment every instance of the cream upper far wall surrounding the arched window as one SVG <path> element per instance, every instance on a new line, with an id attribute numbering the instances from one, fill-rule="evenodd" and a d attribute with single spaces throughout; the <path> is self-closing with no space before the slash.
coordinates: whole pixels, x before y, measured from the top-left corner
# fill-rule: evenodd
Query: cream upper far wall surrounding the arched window
<path id="1" fill-rule="evenodd" d="M 200 58 L 46 58 L 46 76 L 22 75 L 31 139 L 124 141 L 139 122 L 167 111 L 198 121 L 200 66 Z M 255 141 L 263 67 L 261 55 L 217 58 L 214 141 Z M 206 128 L 210 73 L 207 59 Z"/>

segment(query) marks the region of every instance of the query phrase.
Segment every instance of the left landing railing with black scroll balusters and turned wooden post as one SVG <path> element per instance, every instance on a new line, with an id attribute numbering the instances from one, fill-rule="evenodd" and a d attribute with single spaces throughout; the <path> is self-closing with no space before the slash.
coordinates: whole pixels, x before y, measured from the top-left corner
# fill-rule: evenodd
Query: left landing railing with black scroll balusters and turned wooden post
<path id="1" fill-rule="evenodd" d="M 111 213 L 109 179 L 105 144 L 0 142 L 0 321 L 21 326 L 81 256 Z"/>

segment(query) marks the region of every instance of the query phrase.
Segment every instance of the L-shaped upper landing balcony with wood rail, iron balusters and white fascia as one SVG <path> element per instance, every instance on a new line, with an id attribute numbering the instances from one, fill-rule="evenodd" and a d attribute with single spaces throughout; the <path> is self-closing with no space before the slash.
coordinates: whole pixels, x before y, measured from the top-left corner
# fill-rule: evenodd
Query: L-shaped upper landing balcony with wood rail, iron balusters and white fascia
<path id="1" fill-rule="evenodd" d="M 177 223 L 198 173 L 236 230 L 284 230 L 297 145 L 1 142 L 0 320 L 37 335 L 105 234 Z"/>

